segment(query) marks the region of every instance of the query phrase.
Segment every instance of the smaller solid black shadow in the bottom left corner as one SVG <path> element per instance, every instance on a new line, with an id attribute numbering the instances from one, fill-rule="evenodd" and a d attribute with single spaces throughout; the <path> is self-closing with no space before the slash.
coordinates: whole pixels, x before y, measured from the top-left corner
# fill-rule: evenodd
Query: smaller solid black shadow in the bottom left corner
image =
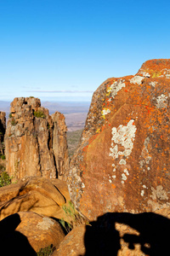
<path id="1" fill-rule="evenodd" d="M 20 215 L 17 213 L 0 221 L 0 255 L 37 255 L 26 236 L 15 230 L 20 222 Z"/>

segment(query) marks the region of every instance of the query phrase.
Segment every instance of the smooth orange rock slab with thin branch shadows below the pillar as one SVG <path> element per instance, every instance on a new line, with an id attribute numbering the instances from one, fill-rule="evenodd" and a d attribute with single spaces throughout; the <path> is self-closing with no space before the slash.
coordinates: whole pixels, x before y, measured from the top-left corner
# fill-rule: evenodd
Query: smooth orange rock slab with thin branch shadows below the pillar
<path id="1" fill-rule="evenodd" d="M 19 183 L 0 188 L 0 219 L 16 212 L 37 212 L 64 218 L 63 206 L 70 201 L 67 185 L 59 179 L 27 177 Z"/>

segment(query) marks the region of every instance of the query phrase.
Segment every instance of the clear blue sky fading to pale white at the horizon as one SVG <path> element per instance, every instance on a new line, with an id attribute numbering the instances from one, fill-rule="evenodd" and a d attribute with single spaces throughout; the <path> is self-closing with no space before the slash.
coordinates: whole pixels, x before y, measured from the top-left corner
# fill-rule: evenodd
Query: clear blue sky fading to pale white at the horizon
<path id="1" fill-rule="evenodd" d="M 170 58 L 170 1 L 0 0 L 0 100 L 88 101 Z"/>

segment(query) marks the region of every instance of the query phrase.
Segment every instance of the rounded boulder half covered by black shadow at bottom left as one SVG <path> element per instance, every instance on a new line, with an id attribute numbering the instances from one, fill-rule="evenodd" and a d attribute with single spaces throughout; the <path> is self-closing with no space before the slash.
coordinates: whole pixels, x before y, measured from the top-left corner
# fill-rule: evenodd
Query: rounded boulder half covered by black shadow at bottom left
<path id="1" fill-rule="evenodd" d="M 0 222 L 2 255 L 37 255 L 53 244 L 58 248 L 65 234 L 58 222 L 34 212 L 18 212 Z"/>

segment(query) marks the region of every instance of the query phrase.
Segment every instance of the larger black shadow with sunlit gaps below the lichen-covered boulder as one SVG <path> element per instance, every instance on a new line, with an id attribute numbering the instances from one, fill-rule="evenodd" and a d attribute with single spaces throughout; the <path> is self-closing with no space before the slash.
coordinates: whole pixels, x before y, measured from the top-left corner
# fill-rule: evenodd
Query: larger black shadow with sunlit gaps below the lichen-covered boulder
<path id="1" fill-rule="evenodd" d="M 129 225 L 139 231 L 139 236 L 125 234 L 120 237 L 116 223 Z M 140 244 L 141 251 L 147 255 L 170 255 L 170 220 L 159 214 L 108 212 L 90 224 L 84 236 L 86 256 L 116 256 L 121 248 L 121 238 L 128 242 L 129 249 Z"/>

